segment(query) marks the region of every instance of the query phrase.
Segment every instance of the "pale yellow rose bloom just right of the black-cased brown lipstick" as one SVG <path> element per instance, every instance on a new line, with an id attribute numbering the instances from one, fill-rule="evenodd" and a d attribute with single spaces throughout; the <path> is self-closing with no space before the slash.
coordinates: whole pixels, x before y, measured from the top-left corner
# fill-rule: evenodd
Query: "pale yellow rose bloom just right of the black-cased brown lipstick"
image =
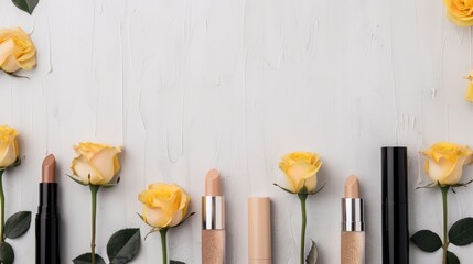
<path id="1" fill-rule="evenodd" d="M 97 143 L 79 143 L 74 146 L 77 157 L 71 166 L 75 176 L 85 185 L 106 185 L 120 170 L 118 154 L 121 146 L 115 147 Z"/>

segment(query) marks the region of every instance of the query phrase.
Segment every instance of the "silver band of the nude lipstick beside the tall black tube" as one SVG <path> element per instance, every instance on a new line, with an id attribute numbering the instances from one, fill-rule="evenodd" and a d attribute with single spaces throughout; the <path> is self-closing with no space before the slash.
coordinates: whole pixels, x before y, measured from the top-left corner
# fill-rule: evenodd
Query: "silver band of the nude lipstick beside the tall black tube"
<path id="1" fill-rule="evenodd" d="M 362 198 L 342 198 L 342 231 L 365 231 Z"/>

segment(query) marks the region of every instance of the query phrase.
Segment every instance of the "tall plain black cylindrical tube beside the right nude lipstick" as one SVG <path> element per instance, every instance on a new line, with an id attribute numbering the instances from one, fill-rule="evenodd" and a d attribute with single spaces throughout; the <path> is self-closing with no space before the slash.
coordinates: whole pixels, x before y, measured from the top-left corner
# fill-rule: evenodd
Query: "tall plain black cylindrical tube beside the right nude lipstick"
<path id="1" fill-rule="evenodd" d="M 383 264 L 409 263 L 407 148 L 381 148 Z"/>

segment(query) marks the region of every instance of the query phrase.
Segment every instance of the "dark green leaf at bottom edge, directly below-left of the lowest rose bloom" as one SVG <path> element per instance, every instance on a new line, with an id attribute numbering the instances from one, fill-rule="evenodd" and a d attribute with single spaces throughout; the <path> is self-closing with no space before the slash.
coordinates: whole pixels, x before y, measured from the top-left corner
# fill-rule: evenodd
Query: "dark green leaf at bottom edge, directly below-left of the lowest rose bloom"
<path id="1" fill-rule="evenodd" d="M 140 241 L 140 229 L 122 229 L 111 235 L 107 243 L 110 264 L 130 262 L 138 253 Z"/>

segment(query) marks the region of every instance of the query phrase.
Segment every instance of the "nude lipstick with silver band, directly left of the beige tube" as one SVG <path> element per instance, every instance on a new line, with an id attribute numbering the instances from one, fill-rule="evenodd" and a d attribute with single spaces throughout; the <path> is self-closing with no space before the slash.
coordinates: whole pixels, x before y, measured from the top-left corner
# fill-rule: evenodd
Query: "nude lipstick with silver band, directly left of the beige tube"
<path id="1" fill-rule="evenodd" d="M 217 169 L 205 177 L 202 224 L 202 264 L 225 264 L 225 199 Z"/>

